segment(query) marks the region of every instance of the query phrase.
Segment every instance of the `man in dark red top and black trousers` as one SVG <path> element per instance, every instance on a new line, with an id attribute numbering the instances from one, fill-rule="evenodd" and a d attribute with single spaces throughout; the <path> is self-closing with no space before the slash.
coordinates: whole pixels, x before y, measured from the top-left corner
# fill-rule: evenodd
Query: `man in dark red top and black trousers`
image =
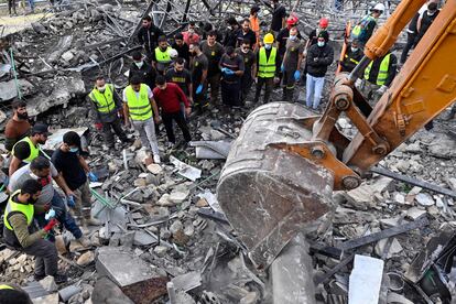
<path id="1" fill-rule="evenodd" d="M 176 138 L 174 137 L 173 120 L 181 128 L 182 133 L 186 142 L 192 140 L 192 135 L 188 131 L 188 124 L 185 120 L 184 113 L 181 110 L 181 104 L 185 105 L 185 115 L 188 117 L 192 108 L 184 91 L 178 85 L 173 83 L 166 83 L 163 76 L 158 76 L 155 79 L 156 87 L 153 89 L 153 97 L 162 110 L 162 120 L 165 126 L 167 140 L 170 143 L 175 144 Z"/>

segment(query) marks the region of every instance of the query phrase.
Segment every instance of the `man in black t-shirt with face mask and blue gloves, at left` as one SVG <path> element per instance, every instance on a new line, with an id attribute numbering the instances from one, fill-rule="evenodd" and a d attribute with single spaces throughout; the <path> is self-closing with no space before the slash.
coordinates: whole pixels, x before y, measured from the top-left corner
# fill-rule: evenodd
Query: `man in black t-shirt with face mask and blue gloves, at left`
<path id="1" fill-rule="evenodd" d="M 84 227 L 99 226 L 101 222 L 91 217 L 91 194 L 88 181 L 98 182 L 98 177 L 90 171 L 79 152 L 79 134 L 74 131 L 66 132 L 61 146 L 52 154 L 52 163 L 75 194 L 75 206 L 70 209 L 74 211 L 74 217 Z"/>

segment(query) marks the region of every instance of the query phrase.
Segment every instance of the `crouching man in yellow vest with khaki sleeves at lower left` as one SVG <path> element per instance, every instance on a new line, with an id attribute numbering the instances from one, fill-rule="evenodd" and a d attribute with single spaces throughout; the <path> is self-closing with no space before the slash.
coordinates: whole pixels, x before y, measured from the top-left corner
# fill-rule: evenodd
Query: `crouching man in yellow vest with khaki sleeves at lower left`
<path id="1" fill-rule="evenodd" d="M 44 239 L 58 221 L 53 218 L 37 231 L 33 225 L 35 210 L 45 210 L 44 206 L 35 206 L 42 188 L 37 181 L 28 180 L 11 194 L 3 215 L 3 237 L 8 246 L 35 257 L 36 281 L 52 275 L 55 283 L 59 284 L 66 282 L 67 278 L 57 273 L 58 256 L 54 243 Z"/>

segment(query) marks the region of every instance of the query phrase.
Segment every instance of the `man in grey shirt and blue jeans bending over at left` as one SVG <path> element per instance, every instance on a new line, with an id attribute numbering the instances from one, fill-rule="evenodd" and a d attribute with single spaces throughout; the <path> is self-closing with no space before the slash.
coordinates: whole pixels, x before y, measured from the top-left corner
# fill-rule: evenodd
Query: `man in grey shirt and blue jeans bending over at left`
<path id="1" fill-rule="evenodd" d="M 45 206 L 46 209 L 52 208 L 54 210 L 53 218 L 62 222 L 80 246 L 84 248 L 89 247 L 90 241 L 83 236 L 83 231 L 77 226 L 73 216 L 67 211 L 65 202 L 53 186 L 52 182 L 55 181 L 66 195 L 67 206 L 73 208 L 75 206 L 75 194 L 68 187 L 62 175 L 58 174 L 55 166 L 44 156 L 34 159 L 30 164 L 14 172 L 8 184 L 8 191 L 13 193 L 20 189 L 29 180 L 37 181 L 43 187 L 41 194 L 37 196 L 35 206 Z M 34 217 L 40 227 L 44 227 L 48 222 L 48 218 L 46 218 L 44 213 L 36 213 Z M 54 236 L 50 235 L 50 239 L 53 241 Z"/>

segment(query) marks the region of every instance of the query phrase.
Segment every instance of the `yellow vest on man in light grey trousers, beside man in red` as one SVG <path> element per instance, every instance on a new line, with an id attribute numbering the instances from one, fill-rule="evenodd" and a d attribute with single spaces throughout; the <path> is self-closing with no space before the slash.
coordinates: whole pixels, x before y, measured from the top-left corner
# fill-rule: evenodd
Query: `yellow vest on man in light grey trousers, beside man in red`
<path id="1" fill-rule="evenodd" d="M 141 84 L 139 97 L 137 97 L 137 93 L 131 85 L 128 86 L 126 96 L 128 110 L 132 120 L 146 120 L 152 117 L 152 107 L 149 101 L 146 85 Z"/>

